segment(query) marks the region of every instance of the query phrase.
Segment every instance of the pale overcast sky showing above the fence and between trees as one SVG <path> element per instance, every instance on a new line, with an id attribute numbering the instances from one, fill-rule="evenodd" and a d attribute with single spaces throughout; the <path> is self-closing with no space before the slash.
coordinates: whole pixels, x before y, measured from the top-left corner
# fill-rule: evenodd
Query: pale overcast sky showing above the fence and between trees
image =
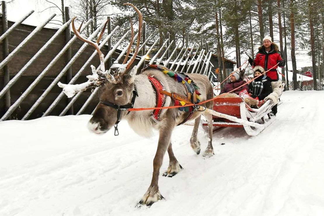
<path id="1" fill-rule="evenodd" d="M 9 1 L 9 0 L 6 0 Z M 52 0 L 53 2 L 60 5 L 61 0 Z M 74 7 L 74 0 L 65 0 L 65 6 L 70 6 L 71 16 L 73 16 L 75 8 Z M 53 6 L 50 3 L 47 3 L 45 0 L 14 0 L 13 3 L 8 4 L 7 13 L 8 13 L 8 20 L 17 21 L 23 15 L 27 14 L 29 11 L 34 10 L 35 12 L 29 16 L 23 23 L 28 25 L 37 26 L 41 22 L 43 22 L 46 18 L 48 18 L 51 14 L 56 13 L 57 15 L 61 12 L 58 9 L 48 9 L 43 11 L 45 8 Z M 43 11 L 43 12 L 41 12 Z M 116 13 L 116 9 L 112 7 L 107 8 L 107 14 Z M 54 19 L 61 20 L 61 17 L 57 17 Z M 57 28 L 57 25 L 48 24 L 46 27 Z M 276 35 L 275 35 L 276 37 Z M 296 40 L 298 40 L 296 38 Z M 257 51 L 257 50 L 256 50 Z M 307 51 L 296 51 L 296 62 L 297 67 L 304 67 L 304 66 L 312 66 L 311 57 L 306 55 Z M 243 63 L 247 56 L 243 54 L 241 62 Z M 230 54 L 229 59 L 235 58 L 235 52 Z M 288 69 L 291 70 L 291 57 L 290 57 L 290 50 L 288 50 Z M 298 68 L 297 68 L 298 69 Z"/>

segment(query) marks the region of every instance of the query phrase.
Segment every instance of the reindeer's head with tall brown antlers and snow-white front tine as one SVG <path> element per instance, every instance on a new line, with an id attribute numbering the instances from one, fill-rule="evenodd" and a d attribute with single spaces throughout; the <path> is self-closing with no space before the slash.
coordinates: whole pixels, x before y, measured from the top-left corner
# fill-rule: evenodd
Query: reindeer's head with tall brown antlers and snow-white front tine
<path id="1" fill-rule="evenodd" d="M 137 44 L 136 49 L 133 56 L 127 61 L 132 44 L 133 44 L 133 23 L 131 20 L 131 30 L 132 37 L 131 42 L 129 44 L 127 54 L 125 56 L 125 60 L 122 64 L 118 64 L 118 62 L 114 63 L 112 67 L 105 71 L 104 64 L 104 56 L 101 53 L 98 42 L 97 43 L 89 41 L 83 38 L 78 31 L 75 30 L 74 20 L 72 21 L 72 29 L 75 35 L 82 41 L 87 42 L 93 45 L 100 58 L 100 69 L 96 70 L 94 66 L 92 67 L 92 75 L 87 76 L 89 79 L 86 83 L 82 83 L 79 85 L 65 85 L 59 83 L 59 86 L 64 88 L 64 93 L 68 97 L 72 97 L 76 92 L 85 90 L 90 87 L 98 87 L 99 88 L 99 103 L 96 107 L 96 110 L 92 116 L 92 118 L 88 122 L 88 129 L 91 132 L 100 134 L 107 132 L 112 126 L 117 125 L 119 121 L 128 113 L 127 108 L 133 107 L 133 102 L 135 95 L 137 94 L 134 91 L 134 78 L 136 75 L 137 68 L 136 66 L 130 68 L 135 57 L 138 53 L 140 39 L 141 39 L 141 30 L 143 23 L 142 13 L 132 4 L 126 3 L 124 5 L 132 6 L 139 16 L 139 31 L 137 36 Z M 103 33 L 103 31 L 102 31 Z M 100 37 L 102 34 L 100 34 Z M 115 129 L 117 126 L 115 126 Z M 116 134 L 115 134 L 116 135 Z"/>

